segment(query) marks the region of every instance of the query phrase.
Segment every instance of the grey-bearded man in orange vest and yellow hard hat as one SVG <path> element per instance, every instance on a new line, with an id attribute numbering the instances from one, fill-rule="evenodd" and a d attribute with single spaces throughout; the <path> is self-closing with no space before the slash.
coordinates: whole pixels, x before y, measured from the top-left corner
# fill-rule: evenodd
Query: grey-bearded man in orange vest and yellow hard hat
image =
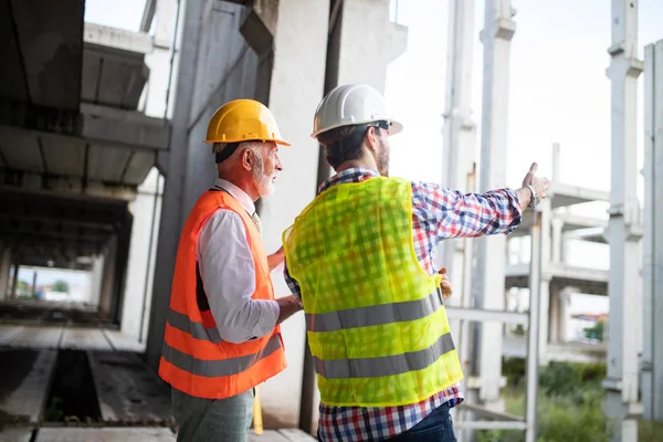
<path id="1" fill-rule="evenodd" d="M 254 202 L 274 191 L 283 166 L 272 113 L 251 99 L 212 116 L 219 178 L 183 227 L 159 375 L 172 387 L 178 441 L 245 441 L 254 387 L 285 368 L 278 324 L 299 311 L 274 299 Z M 282 257 L 281 257 L 282 259 Z"/>

